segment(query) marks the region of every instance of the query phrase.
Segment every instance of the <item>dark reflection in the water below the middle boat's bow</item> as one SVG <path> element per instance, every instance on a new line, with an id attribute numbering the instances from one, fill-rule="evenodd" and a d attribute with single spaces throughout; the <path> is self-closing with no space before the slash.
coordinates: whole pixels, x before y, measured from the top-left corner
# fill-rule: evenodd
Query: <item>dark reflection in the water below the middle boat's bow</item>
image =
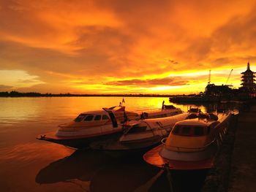
<path id="1" fill-rule="evenodd" d="M 100 169 L 91 180 L 91 191 L 135 191 L 151 180 L 159 169 L 144 163 L 141 156 L 130 156 Z M 146 190 L 144 190 L 146 191 Z"/>

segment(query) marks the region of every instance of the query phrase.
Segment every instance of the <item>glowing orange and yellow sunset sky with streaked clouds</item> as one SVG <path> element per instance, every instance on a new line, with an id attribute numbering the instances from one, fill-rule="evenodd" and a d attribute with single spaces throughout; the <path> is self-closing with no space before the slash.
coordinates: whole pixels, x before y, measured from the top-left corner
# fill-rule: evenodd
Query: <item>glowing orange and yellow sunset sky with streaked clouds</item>
<path id="1" fill-rule="evenodd" d="M 255 0 L 0 0 L 0 91 L 198 93 L 247 61 Z"/>

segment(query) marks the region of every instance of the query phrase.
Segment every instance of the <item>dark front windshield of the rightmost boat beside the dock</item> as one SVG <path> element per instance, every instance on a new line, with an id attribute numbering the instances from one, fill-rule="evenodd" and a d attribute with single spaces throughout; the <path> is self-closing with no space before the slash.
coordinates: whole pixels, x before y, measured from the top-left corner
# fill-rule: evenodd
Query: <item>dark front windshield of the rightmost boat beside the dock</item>
<path id="1" fill-rule="evenodd" d="M 189 137 L 204 136 L 207 134 L 205 129 L 205 126 L 176 125 L 173 128 L 172 134 Z"/>

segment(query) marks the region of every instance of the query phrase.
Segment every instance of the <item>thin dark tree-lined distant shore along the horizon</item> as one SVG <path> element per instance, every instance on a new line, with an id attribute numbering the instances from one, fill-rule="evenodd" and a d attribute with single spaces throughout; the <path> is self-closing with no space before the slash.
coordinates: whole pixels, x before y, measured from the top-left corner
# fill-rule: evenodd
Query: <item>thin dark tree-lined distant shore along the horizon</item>
<path id="1" fill-rule="evenodd" d="M 72 93 L 20 93 L 18 91 L 11 92 L 0 92 L 0 97 L 89 97 L 89 96 L 120 96 L 120 97 L 172 97 L 178 95 L 167 95 L 167 94 L 72 94 Z"/>

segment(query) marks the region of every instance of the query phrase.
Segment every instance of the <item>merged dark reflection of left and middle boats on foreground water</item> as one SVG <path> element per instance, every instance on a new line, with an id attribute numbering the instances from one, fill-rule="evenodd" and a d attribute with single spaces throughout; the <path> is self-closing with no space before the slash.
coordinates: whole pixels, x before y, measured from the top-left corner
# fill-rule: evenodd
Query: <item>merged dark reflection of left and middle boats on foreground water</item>
<path id="1" fill-rule="evenodd" d="M 145 164 L 141 156 L 111 158 L 101 151 L 77 150 L 41 169 L 39 184 L 91 181 L 90 191 L 134 191 L 159 172 Z"/>

